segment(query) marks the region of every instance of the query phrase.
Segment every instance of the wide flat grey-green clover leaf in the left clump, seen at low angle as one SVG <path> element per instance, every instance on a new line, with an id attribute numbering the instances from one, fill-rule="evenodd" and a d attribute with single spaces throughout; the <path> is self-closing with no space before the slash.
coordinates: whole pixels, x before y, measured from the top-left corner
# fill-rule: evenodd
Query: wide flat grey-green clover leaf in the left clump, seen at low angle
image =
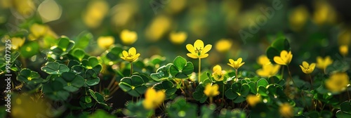
<path id="1" fill-rule="evenodd" d="M 41 70 L 48 74 L 62 74 L 62 72 L 68 72 L 69 68 L 66 65 L 62 65 L 56 62 L 46 63 L 44 67 L 41 67 Z"/>

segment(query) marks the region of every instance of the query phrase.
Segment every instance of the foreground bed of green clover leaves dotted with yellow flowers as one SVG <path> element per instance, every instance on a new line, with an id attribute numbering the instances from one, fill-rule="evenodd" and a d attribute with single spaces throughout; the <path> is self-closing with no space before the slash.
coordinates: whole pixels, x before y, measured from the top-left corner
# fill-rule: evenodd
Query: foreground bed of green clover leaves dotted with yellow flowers
<path id="1" fill-rule="evenodd" d="M 12 94 L 46 100 L 53 117 L 351 117 L 350 62 L 327 56 L 291 65 L 300 60 L 285 38 L 275 39 L 260 56 L 256 72 L 239 70 L 246 66 L 243 58 L 228 60 L 230 70 L 218 64 L 201 71 L 212 45 L 200 39 L 184 47 L 187 55 L 143 60 L 140 48 L 119 45 L 90 55 L 84 50 L 87 39 L 85 32 L 74 40 L 59 37 L 42 52 L 15 50 Z M 41 54 L 39 70 L 25 66 L 30 65 L 25 58 Z M 6 65 L 0 61 L 2 78 Z M 197 72 L 193 63 L 198 63 Z M 296 76 L 292 66 L 308 80 Z"/>

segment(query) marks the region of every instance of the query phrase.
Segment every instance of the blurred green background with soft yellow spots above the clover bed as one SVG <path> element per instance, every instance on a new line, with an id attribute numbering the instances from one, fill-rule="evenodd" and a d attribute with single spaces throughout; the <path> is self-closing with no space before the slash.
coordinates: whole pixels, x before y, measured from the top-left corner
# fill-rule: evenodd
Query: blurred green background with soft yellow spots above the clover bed
<path id="1" fill-rule="evenodd" d="M 74 39 L 89 32 L 93 40 L 85 50 L 91 55 L 106 50 L 98 45 L 99 37 L 110 37 L 112 44 L 137 48 L 141 58 L 159 54 L 169 62 L 177 55 L 187 58 L 185 45 L 201 39 L 213 45 L 203 67 L 241 57 L 248 62 L 244 70 L 256 70 L 258 66 L 249 65 L 256 65 L 256 58 L 274 39 L 286 37 L 298 69 L 303 60 L 336 57 L 338 46 L 350 46 L 350 4 L 347 0 L 0 0 L 0 36 L 3 43 L 9 37 L 22 37 L 24 45 L 38 40 L 40 51 L 50 44 L 36 32 L 53 39 L 61 35 Z"/>

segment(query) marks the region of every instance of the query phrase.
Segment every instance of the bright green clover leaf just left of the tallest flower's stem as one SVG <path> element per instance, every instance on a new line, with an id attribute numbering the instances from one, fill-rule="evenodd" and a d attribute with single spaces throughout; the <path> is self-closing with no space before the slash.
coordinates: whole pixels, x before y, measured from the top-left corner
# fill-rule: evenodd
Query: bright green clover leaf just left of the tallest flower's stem
<path id="1" fill-rule="evenodd" d="M 194 72 L 194 65 L 191 62 L 187 62 L 185 58 L 178 56 L 173 60 L 173 65 L 169 67 L 169 72 L 173 77 L 185 79 Z"/>

